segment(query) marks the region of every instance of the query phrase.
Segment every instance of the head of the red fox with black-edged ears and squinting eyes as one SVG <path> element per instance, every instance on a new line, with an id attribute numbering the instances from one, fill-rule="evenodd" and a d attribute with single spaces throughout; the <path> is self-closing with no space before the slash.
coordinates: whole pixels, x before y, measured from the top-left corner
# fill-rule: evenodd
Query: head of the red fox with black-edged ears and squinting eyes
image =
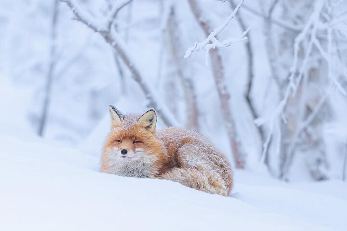
<path id="1" fill-rule="evenodd" d="M 124 115 L 112 105 L 109 110 L 111 131 L 103 149 L 105 166 L 133 164 L 155 167 L 163 155 L 162 144 L 155 137 L 155 110 L 149 109 L 141 116 Z"/>

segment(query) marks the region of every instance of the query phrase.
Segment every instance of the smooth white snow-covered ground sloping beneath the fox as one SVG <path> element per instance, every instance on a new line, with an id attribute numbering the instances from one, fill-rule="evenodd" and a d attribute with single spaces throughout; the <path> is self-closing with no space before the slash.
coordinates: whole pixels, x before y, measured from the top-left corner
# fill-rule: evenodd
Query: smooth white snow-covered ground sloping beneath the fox
<path id="1" fill-rule="evenodd" d="M 230 197 L 103 174 L 99 158 L 0 136 L 0 230 L 346 230 L 347 185 L 235 172 Z"/>

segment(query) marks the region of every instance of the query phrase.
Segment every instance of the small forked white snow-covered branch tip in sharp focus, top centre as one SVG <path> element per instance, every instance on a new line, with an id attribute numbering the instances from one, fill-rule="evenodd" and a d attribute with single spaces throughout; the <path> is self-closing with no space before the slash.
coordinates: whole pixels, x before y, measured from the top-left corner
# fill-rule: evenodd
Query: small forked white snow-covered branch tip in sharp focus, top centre
<path id="1" fill-rule="evenodd" d="M 195 42 L 194 45 L 192 47 L 189 47 L 186 51 L 186 54 L 184 55 L 185 58 L 191 56 L 193 54 L 193 52 L 196 51 L 200 51 L 205 49 L 206 52 L 206 57 L 208 55 L 208 52 L 210 49 L 212 48 L 216 48 L 216 47 L 226 47 L 226 46 L 230 46 L 232 43 L 237 43 L 237 42 L 241 42 L 244 41 L 245 39 L 247 39 L 246 34 L 248 33 L 249 29 L 245 30 L 242 35 L 239 38 L 227 38 L 223 41 L 219 41 L 216 36 L 230 23 L 230 21 L 235 17 L 237 11 L 240 9 L 240 7 L 242 6 L 242 4 L 244 3 L 245 0 L 241 0 L 239 2 L 239 4 L 237 5 L 237 7 L 234 9 L 234 11 L 232 11 L 232 13 L 230 14 L 230 16 L 217 28 L 215 28 L 210 35 L 204 39 L 204 41 L 197 43 Z"/>

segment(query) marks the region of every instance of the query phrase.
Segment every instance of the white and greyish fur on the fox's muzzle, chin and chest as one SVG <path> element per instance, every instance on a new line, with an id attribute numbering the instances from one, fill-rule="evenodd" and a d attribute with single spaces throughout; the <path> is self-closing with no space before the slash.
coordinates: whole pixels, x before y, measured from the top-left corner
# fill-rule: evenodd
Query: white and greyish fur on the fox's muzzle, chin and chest
<path id="1" fill-rule="evenodd" d="M 153 166 L 156 158 L 146 154 L 142 149 L 128 151 L 126 157 L 122 156 L 124 155 L 118 149 L 108 152 L 110 173 L 128 177 L 150 177 L 158 172 Z"/>

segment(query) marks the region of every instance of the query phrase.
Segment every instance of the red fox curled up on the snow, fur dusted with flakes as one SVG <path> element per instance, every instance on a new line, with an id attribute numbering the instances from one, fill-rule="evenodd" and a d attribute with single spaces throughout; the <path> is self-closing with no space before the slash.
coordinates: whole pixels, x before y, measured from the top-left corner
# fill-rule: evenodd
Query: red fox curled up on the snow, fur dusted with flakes
<path id="1" fill-rule="evenodd" d="M 177 181 L 207 193 L 228 196 L 232 170 L 227 158 L 195 131 L 155 131 L 157 116 L 124 115 L 110 105 L 111 131 L 104 143 L 101 172 Z"/>

